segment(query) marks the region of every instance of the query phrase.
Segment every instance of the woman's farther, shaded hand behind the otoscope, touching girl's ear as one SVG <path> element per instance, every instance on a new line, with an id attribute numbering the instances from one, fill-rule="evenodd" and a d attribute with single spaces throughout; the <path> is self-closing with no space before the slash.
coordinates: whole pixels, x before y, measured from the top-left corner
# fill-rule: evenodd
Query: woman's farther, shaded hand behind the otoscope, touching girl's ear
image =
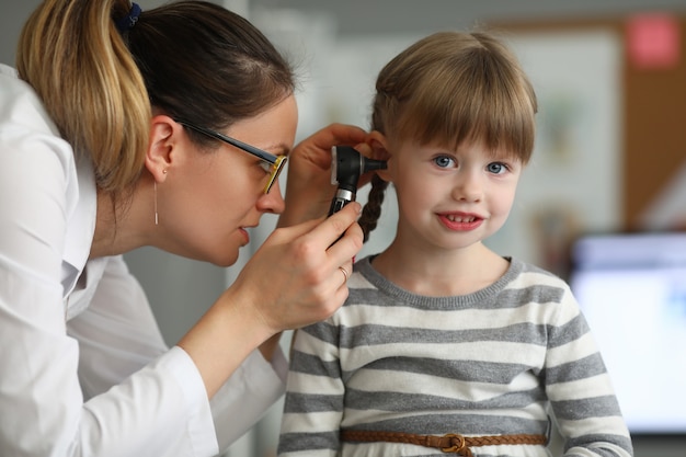
<path id="1" fill-rule="evenodd" d="M 335 186 L 331 184 L 331 148 L 353 146 L 365 153 L 367 134 L 362 128 L 332 124 L 298 144 L 288 156 L 286 209 L 279 227 L 318 219 L 329 212 Z M 365 153 L 366 155 L 366 153 Z"/>

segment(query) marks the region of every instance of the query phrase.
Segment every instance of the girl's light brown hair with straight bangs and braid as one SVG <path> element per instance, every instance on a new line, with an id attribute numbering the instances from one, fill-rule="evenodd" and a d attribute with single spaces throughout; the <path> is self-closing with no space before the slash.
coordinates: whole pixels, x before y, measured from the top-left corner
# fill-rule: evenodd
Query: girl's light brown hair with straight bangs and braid
<path id="1" fill-rule="evenodd" d="M 487 32 L 439 32 L 414 43 L 379 72 L 371 129 L 393 142 L 457 149 L 482 140 L 527 163 L 536 135 L 536 94 L 513 52 Z M 359 224 L 365 240 L 387 183 L 371 180 Z"/>

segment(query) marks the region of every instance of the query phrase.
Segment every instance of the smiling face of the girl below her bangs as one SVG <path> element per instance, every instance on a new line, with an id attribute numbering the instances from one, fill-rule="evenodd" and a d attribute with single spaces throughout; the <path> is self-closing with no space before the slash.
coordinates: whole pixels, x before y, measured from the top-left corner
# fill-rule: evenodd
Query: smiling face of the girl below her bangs
<path id="1" fill-rule="evenodd" d="M 522 163 L 481 141 L 457 150 L 401 142 L 388 175 L 398 195 L 398 237 L 422 249 L 462 249 L 493 235 L 510 214 Z"/>

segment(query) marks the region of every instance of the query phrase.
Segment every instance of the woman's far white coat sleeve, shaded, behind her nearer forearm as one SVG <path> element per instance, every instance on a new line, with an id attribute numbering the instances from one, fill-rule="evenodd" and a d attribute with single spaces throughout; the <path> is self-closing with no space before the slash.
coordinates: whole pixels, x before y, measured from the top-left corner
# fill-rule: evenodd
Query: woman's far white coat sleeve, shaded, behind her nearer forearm
<path id="1" fill-rule="evenodd" d="M 121 256 L 108 260 L 90 307 L 68 329 L 81 347 L 79 379 L 87 398 L 167 352 L 146 295 Z M 259 351 L 249 355 L 210 402 L 219 449 L 242 436 L 283 395 L 286 373 L 281 350 L 272 363 Z"/>

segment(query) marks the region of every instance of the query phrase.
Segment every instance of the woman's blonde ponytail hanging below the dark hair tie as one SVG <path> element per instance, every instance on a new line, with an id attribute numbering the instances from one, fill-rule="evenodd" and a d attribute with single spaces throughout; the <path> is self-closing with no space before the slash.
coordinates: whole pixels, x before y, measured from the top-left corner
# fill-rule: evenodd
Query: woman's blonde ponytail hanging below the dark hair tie
<path id="1" fill-rule="evenodd" d="M 96 185 L 127 190 L 148 146 L 150 102 L 115 21 L 128 0 L 46 0 L 20 36 L 16 67 L 77 155 L 90 157 Z"/>

